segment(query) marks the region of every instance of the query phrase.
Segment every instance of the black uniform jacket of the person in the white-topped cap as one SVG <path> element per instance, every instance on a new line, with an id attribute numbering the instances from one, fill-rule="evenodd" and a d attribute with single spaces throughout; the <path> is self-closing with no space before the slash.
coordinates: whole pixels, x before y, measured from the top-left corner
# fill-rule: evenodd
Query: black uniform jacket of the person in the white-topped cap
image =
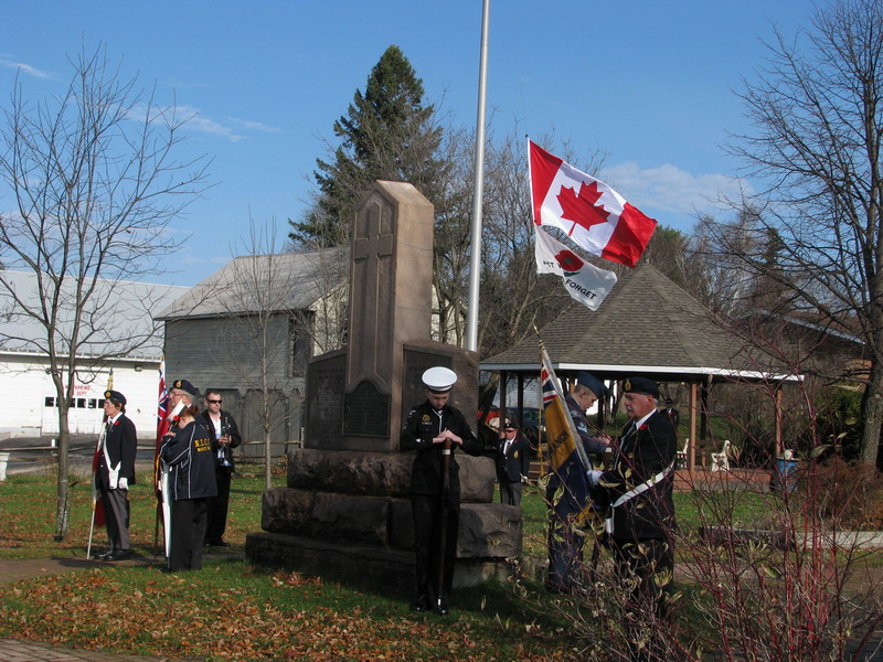
<path id="1" fill-rule="evenodd" d="M 462 448 L 472 456 L 481 455 L 481 444 L 459 409 L 445 405 L 439 415 L 429 401 L 414 407 L 407 415 L 400 439 L 402 450 L 417 451 L 411 473 L 412 494 L 439 494 L 442 492 L 442 447 L 444 445 L 433 444 L 433 438 L 438 437 L 444 430 L 450 430 L 462 439 L 461 447 L 456 444 L 451 446 L 448 470 L 451 494 L 460 493 L 456 449 Z"/>

